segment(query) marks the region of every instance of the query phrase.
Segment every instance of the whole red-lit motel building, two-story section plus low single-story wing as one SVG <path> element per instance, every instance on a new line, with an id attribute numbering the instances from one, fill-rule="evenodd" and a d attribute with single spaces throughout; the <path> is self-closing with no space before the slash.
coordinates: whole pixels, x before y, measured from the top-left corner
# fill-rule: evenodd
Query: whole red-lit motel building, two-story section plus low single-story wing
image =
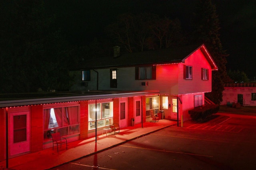
<path id="1" fill-rule="evenodd" d="M 122 55 L 115 47 L 113 58 L 91 59 L 72 71 L 77 84 L 70 92 L 0 101 L 0 161 L 6 137 L 8 155 L 17 156 L 52 147 L 56 131 L 68 142 L 95 136 L 95 125 L 102 134 L 110 119 L 122 128 L 161 110 L 163 119 L 186 121 L 188 110 L 204 105 L 217 69 L 204 45 Z"/>

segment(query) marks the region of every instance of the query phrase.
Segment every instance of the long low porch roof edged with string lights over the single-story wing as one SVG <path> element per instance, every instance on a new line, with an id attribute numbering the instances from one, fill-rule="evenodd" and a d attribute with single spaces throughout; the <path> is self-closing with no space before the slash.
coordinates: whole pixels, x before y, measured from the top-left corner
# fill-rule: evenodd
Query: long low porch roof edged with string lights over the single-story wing
<path id="1" fill-rule="evenodd" d="M 89 91 L 89 92 L 52 92 L 29 94 L 0 94 L 0 107 L 16 107 L 62 102 L 77 102 L 83 100 L 100 100 L 109 98 L 126 98 L 132 96 L 147 96 L 159 94 L 152 91 Z"/>

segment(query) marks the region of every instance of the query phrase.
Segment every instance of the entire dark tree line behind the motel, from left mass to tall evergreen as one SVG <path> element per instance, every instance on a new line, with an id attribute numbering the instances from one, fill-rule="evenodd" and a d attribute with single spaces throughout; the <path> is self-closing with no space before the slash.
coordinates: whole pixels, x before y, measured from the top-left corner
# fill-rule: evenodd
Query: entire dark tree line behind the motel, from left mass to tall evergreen
<path id="1" fill-rule="evenodd" d="M 218 66 L 218 71 L 213 71 L 212 93 L 207 96 L 216 104 L 222 100 L 228 55 L 222 49 L 220 23 L 210 0 L 200 0 L 190 24 L 192 30 L 182 27 L 179 19 L 124 13 L 87 44 L 70 43 L 63 27 L 56 24 L 65 20 L 49 13 L 43 0 L 1 3 L 0 93 L 68 90 L 70 67 L 92 57 L 112 57 L 116 45 L 122 52 L 132 53 L 204 43 Z M 85 30 L 84 34 L 90 32 Z"/>

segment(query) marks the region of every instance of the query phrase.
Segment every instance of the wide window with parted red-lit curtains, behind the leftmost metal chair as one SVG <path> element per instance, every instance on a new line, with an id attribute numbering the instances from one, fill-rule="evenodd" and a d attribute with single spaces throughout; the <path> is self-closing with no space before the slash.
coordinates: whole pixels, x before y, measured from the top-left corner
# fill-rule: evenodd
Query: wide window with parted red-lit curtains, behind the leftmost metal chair
<path id="1" fill-rule="evenodd" d="M 60 132 L 61 136 L 79 133 L 79 106 L 44 109 L 44 139 L 51 133 Z"/>

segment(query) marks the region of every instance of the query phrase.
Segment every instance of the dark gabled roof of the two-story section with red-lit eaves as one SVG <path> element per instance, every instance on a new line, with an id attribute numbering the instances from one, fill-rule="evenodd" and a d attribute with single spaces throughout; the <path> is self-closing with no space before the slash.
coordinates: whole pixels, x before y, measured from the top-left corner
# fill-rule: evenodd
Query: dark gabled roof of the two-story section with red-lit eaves
<path id="1" fill-rule="evenodd" d="M 75 70 L 89 70 L 97 68 L 116 68 L 124 66 L 143 66 L 151 64 L 184 63 L 185 59 L 200 49 L 210 63 L 212 70 L 217 70 L 212 57 L 204 45 L 190 45 L 173 47 L 137 53 L 124 53 L 119 57 L 102 57 L 86 60 L 80 63 Z"/>

